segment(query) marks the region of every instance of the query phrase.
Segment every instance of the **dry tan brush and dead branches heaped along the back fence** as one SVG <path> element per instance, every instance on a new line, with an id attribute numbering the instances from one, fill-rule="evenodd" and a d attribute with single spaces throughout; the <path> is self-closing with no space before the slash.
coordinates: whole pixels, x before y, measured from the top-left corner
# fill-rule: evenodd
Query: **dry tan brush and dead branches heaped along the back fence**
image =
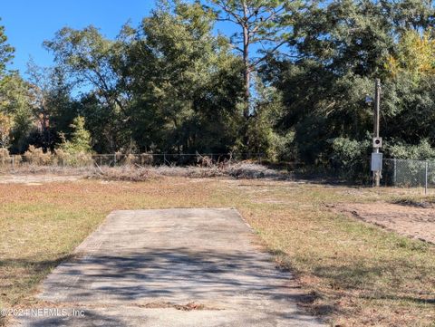
<path id="1" fill-rule="evenodd" d="M 235 161 L 223 159 L 213 161 L 209 157 L 198 155 L 196 164 L 177 166 L 175 164 L 153 166 L 150 154 L 117 157 L 116 165 L 99 165 L 98 160 L 88 157 L 74 157 L 74 160 L 63 154 L 43 153 L 41 149 L 30 148 L 24 154 L 24 161 L 20 156 L 14 157 L 15 165 L 11 164 L 11 157 L 0 157 L 0 173 L 7 175 L 24 174 L 57 174 L 68 176 L 82 176 L 83 178 L 97 178 L 104 180 L 146 181 L 150 178 L 185 177 L 185 178 L 272 178 L 290 179 L 293 175 L 286 170 L 277 170 L 257 164 L 250 160 Z M 113 156 L 114 159 L 114 156 Z"/>

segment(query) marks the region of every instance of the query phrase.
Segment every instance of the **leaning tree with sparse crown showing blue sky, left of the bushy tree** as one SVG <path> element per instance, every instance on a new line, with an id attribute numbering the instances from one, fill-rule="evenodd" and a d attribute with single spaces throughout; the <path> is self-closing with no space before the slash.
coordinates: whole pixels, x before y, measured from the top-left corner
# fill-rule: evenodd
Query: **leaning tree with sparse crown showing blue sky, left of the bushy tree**
<path id="1" fill-rule="evenodd" d="M 52 41 L 46 41 L 44 45 L 54 53 L 55 62 L 69 75 L 75 86 L 90 88 L 100 109 L 105 111 L 104 115 L 108 119 L 104 122 L 103 139 L 107 139 L 107 146 L 103 148 L 115 151 L 128 145 L 131 141 L 128 94 L 121 87 L 118 73 L 117 65 L 122 56 L 118 52 L 121 49 L 118 43 L 107 40 L 97 28 L 88 26 L 82 30 L 64 27 Z"/>

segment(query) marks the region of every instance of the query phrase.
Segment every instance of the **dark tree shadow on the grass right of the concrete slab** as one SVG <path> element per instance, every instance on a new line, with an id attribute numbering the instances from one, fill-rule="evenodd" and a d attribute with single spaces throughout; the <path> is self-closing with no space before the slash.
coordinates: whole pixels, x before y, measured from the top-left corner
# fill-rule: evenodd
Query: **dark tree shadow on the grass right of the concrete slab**
<path id="1" fill-rule="evenodd" d="M 292 271 L 292 264 L 285 252 L 273 250 L 270 251 L 270 254 L 275 255 L 280 264 L 280 269 Z M 419 284 L 420 288 L 417 285 L 411 288 L 406 287 L 406 280 L 414 280 L 415 272 L 412 272 L 412 270 L 416 268 L 423 269 L 420 277 L 421 280 L 424 280 L 431 274 L 430 267 L 415 267 L 401 260 L 384 260 L 372 266 L 367 266 L 362 262 L 354 262 L 348 265 L 311 264 L 315 264 L 311 274 L 314 277 L 320 278 L 323 282 L 320 288 L 317 287 L 319 285 L 314 285 L 316 291 L 301 296 L 298 304 L 316 314 L 335 313 L 345 315 L 348 313 L 347 308 L 342 308 L 334 303 L 342 296 L 369 301 L 382 300 L 397 304 L 435 304 L 435 295 L 430 293 L 430 290 L 427 288 L 430 287 L 430 282 L 428 282 L 427 287 L 423 284 Z M 408 270 L 410 275 L 406 276 L 408 273 L 403 272 L 403 270 Z M 299 277 L 298 272 L 294 274 L 296 277 Z M 402 279 L 402 282 L 398 282 L 397 276 Z M 383 287 L 379 284 L 381 280 L 385 281 Z M 401 286 L 402 283 L 403 286 Z M 395 293 L 396 291 L 397 293 Z"/>

